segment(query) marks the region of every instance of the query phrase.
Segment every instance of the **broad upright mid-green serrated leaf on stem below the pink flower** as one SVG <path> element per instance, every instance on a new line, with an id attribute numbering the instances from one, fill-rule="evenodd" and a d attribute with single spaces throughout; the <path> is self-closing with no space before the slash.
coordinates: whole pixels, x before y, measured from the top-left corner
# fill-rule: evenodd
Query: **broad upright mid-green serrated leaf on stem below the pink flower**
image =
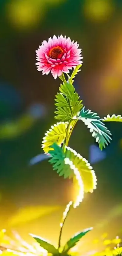
<path id="1" fill-rule="evenodd" d="M 83 107 L 82 100 L 79 100 L 77 92 L 72 84 L 66 82 L 59 87 L 59 93 L 56 95 L 57 110 L 55 118 L 61 121 L 70 121 L 78 111 Z"/>

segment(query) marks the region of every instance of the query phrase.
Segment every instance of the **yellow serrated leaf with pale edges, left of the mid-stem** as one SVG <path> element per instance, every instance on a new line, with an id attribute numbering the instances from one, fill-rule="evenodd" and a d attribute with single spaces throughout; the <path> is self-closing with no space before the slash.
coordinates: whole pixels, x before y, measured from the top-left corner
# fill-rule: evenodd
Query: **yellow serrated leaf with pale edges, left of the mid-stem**
<path id="1" fill-rule="evenodd" d="M 51 126 L 51 129 L 45 133 L 45 137 L 42 141 L 42 149 L 45 153 L 48 153 L 50 146 L 55 142 L 58 145 L 64 142 L 66 137 L 66 129 L 68 127 L 68 122 L 59 122 Z"/>

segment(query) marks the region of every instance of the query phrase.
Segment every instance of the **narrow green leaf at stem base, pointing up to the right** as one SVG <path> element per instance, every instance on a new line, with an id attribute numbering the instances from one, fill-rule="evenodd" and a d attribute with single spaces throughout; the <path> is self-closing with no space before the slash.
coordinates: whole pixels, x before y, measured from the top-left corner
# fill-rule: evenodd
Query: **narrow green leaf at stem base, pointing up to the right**
<path id="1" fill-rule="evenodd" d="M 75 234 L 68 242 L 64 245 L 63 253 L 67 253 L 72 247 L 76 245 L 79 240 L 86 235 L 93 228 L 84 229 L 82 232 Z"/>

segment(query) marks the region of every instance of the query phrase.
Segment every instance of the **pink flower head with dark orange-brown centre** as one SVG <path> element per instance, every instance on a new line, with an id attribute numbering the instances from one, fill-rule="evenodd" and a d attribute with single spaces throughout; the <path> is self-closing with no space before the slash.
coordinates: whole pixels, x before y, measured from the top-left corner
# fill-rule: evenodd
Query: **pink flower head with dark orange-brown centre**
<path id="1" fill-rule="evenodd" d="M 54 35 L 49 38 L 48 42 L 44 40 L 36 51 L 37 70 L 42 71 L 42 74 L 51 74 L 54 79 L 61 76 L 62 72 L 69 73 L 69 70 L 83 63 L 80 59 L 81 49 L 78 49 L 77 42 L 71 42 L 71 39 L 66 36 Z"/>

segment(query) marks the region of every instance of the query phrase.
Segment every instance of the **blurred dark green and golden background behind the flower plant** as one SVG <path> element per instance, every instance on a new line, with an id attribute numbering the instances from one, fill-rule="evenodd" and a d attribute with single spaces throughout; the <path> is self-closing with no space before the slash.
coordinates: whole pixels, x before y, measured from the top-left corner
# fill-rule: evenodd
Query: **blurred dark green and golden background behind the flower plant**
<path id="1" fill-rule="evenodd" d="M 83 66 L 74 86 L 86 108 L 101 117 L 122 115 L 122 1 L 0 1 L 0 228 L 14 228 L 26 238 L 36 233 L 55 244 L 62 211 L 74 197 L 73 185 L 58 177 L 48 161 L 29 166 L 42 153 L 44 133 L 56 122 L 54 96 L 60 81 L 43 76 L 35 66 L 35 50 L 54 34 L 69 36 L 82 48 Z M 122 228 L 122 123 L 107 127 L 113 141 L 107 157 L 93 164 L 97 190 L 86 194 L 64 227 L 63 241 L 93 226 L 87 249 L 92 249 L 93 237 L 105 231 L 111 237 Z M 78 123 L 69 145 L 89 159 L 93 143 Z M 52 205 L 59 207 L 50 215 L 37 214 L 38 219 L 21 225 L 8 221 L 21 208 L 38 211 L 37 206 Z"/>

